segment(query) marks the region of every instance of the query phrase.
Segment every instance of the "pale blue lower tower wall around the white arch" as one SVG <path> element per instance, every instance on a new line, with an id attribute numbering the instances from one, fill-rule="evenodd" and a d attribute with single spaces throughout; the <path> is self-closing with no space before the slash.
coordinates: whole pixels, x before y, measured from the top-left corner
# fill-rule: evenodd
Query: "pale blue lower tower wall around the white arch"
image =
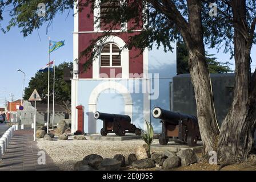
<path id="1" fill-rule="evenodd" d="M 100 109 L 99 111 L 106 110 L 106 111 L 109 111 L 109 113 L 114 113 L 113 111 L 118 112 L 117 108 L 115 107 L 119 107 L 120 112 L 122 109 L 124 109 L 123 113 L 125 113 L 126 115 L 130 115 L 132 122 L 135 125 L 137 125 L 137 127 L 138 126 L 143 127 L 145 116 L 149 118 L 149 115 L 146 115 L 143 111 L 143 107 L 145 105 L 143 99 L 145 97 L 145 94 L 131 93 L 129 94 L 130 98 L 127 99 L 125 97 L 129 97 L 129 96 L 128 95 L 124 96 L 124 94 L 121 94 L 122 90 L 121 92 L 118 92 L 118 88 L 116 88 L 115 90 L 117 90 L 117 92 L 114 92 L 113 87 L 110 86 L 111 89 L 110 89 L 109 97 L 110 98 L 121 97 L 121 98 L 116 100 L 111 100 L 110 98 L 107 98 L 106 102 L 102 102 L 103 101 L 102 99 L 108 97 L 107 96 L 108 90 L 103 89 L 105 90 L 105 92 L 99 92 L 99 93 L 94 92 L 93 90 L 97 88 L 98 85 L 101 85 L 104 82 L 107 82 L 107 81 L 106 80 L 79 80 L 78 81 L 78 88 L 79 88 L 78 103 L 85 106 L 85 132 L 95 133 L 96 130 L 98 130 L 96 129 L 97 127 L 96 121 L 93 118 L 93 114 L 95 111 Z M 111 80 L 111 82 L 113 82 L 113 80 Z M 114 82 L 117 82 L 118 83 L 117 85 L 119 84 L 123 85 L 124 88 L 127 88 L 128 90 L 129 90 L 129 87 L 127 85 L 135 85 L 134 83 L 137 83 L 139 88 L 142 87 L 141 80 L 129 80 L 128 82 L 127 80 L 115 80 Z M 91 93 L 96 93 L 95 97 L 98 98 L 97 104 L 99 104 L 97 108 L 95 108 L 94 102 L 92 102 L 94 99 L 90 101 Z M 101 95 L 102 93 L 104 93 L 104 95 Z M 131 100 L 131 102 L 129 100 Z M 111 110 L 113 111 L 111 112 Z M 101 126 L 98 126 L 98 127 L 101 127 Z"/>

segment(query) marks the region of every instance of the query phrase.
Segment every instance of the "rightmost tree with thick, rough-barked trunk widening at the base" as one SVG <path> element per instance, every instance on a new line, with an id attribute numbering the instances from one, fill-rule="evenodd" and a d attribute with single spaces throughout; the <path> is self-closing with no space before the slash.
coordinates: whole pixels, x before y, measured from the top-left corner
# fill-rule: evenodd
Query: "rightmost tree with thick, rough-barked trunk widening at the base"
<path id="1" fill-rule="evenodd" d="M 217 40 L 218 47 L 224 46 L 235 60 L 234 98 L 218 137 L 218 160 L 241 163 L 248 159 L 256 128 L 256 71 L 251 77 L 250 57 L 256 43 L 256 2 L 217 1 L 217 7 L 214 23 L 206 17 L 205 24 L 219 32 L 210 35 L 211 39 Z"/>

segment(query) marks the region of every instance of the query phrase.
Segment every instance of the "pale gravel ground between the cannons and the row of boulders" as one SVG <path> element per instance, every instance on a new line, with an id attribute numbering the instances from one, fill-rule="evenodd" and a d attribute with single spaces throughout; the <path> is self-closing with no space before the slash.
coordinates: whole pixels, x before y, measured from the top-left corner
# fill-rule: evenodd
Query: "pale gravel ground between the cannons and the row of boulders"
<path id="1" fill-rule="evenodd" d="M 154 140 L 154 144 L 158 141 Z M 116 154 L 128 157 L 135 148 L 144 144 L 142 140 L 94 141 L 94 140 L 38 140 L 37 146 L 51 156 L 54 163 L 63 171 L 73 170 L 74 164 L 90 154 L 103 158 L 113 158 Z M 153 151 L 152 151 L 153 152 Z"/>

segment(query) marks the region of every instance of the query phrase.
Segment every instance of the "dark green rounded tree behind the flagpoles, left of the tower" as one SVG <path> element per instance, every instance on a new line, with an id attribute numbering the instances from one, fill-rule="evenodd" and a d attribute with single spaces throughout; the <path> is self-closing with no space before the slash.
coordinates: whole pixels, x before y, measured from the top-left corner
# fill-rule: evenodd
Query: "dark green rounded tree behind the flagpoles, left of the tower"
<path id="1" fill-rule="evenodd" d="M 67 113 L 71 114 L 69 105 L 71 103 L 71 81 L 63 79 L 63 70 L 73 70 L 73 63 L 62 63 L 55 67 L 55 103 L 61 105 Z M 37 89 L 42 98 L 42 103 L 47 103 L 48 73 L 37 72 L 31 78 L 29 86 L 25 88 L 24 100 L 29 100 L 31 93 Z M 50 73 L 50 102 L 53 103 L 53 72 Z"/>

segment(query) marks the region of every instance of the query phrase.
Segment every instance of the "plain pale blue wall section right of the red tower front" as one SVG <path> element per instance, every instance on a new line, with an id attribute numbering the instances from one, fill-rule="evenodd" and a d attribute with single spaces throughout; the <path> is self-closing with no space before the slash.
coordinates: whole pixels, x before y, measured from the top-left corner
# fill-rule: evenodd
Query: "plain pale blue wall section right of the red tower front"
<path id="1" fill-rule="evenodd" d="M 157 46 L 154 46 L 152 50 L 149 51 L 149 73 L 157 74 L 159 79 L 156 76 L 153 76 L 150 79 L 151 92 L 154 93 L 154 96 L 157 95 L 158 99 L 150 100 L 150 120 L 154 126 L 155 133 L 161 132 L 161 123 L 159 119 L 155 119 L 151 115 L 151 111 L 154 107 L 159 106 L 163 109 L 170 110 L 171 106 L 171 93 L 170 93 L 170 84 L 173 80 L 173 77 L 177 75 L 177 49 L 176 43 L 173 43 L 172 47 L 173 52 L 165 52 L 163 46 L 157 49 Z M 159 80 L 159 81 L 158 81 Z M 154 92 L 153 92 L 154 91 Z"/>

